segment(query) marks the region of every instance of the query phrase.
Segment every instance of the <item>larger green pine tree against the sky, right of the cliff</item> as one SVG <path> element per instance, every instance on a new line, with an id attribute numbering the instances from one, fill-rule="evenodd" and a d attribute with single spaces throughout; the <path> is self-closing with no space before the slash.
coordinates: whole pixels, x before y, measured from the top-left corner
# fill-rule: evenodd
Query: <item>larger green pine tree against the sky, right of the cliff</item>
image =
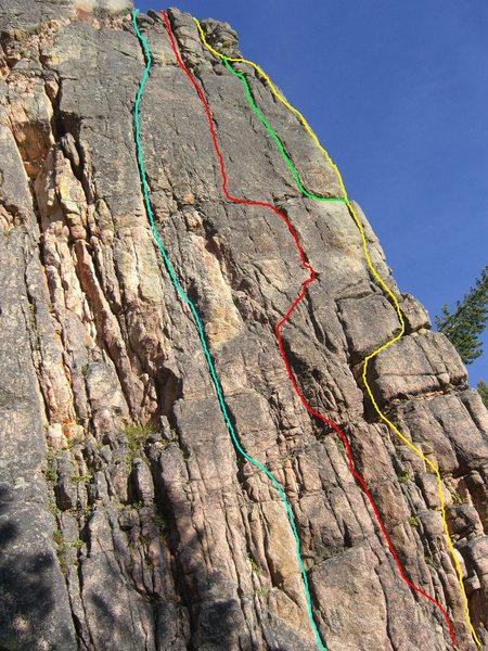
<path id="1" fill-rule="evenodd" d="M 483 342 L 479 335 L 488 320 L 488 267 L 481 271 L 481 277 L 464 296 L 463 302 L 455 303 L 453 312 L 447 305 L 442 314 L 436 317 L 439 332 L 442 332 L 458 349 L 464 363 L 472 363 L 483 355 Z"/>

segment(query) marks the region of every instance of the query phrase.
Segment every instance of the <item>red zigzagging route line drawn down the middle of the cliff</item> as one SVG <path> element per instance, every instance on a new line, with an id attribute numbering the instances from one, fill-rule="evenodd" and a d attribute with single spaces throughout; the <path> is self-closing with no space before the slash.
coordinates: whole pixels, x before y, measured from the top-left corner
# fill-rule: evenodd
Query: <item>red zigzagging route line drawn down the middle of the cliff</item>
<path id="1" fill-rule="evenodd" d="M 451 621 L 449 618 L 449 615 L 447 614 L 446 610 L 441 607 L 441 604 L 436 599 L 434 599 L 434 597 L 431 597 L 431 595 L 427 595 L 427 592 L 425 592 L 422 588 L 420 588 L 419 586 L 416 586 L 415 584 L 413 584 L 412 582 L 410 582 L 407 578 L 407 576 L 406 576 L 406 574 L 403 572 L 403 569 L 401 566 L 400 560 L 399 560 L 399 558 L 397 556 L 397 552 L 395 551 L 395 548 L 394 548 L 394 546 L 391 544 L 391 540 L 389 539 L 389 536 L 388 536 L 388 534 L 386 532 L 385 525 L 383 524 L 381 515 L 380 515 L 380 513 L 377 511 L 376 505 L 374 503 L 374 500 L 373 500 L 373 498 L 371 496 L 371 493 L 369 492 L 368 485 L 364 482 L 364 480 L 362 478 L 362 476 L 355 469 L 354 461 L 352 461 L 352 454 L 351 454 L 349 442 L 348 442 L 346 435 L 342 432 L 342 430 L 338 427 L 338 425 L 336 425 L 333 421 L 329 420 L 325 416 L 323 416 L 322 413 L 319 413 L 318 411 L 316 411 L 314 409 L 312 409 L 310 407 L 310 405 L 307 403 L 304 394 L 298 388 L 298 385 L 297 385 L 297 383 L 295 381 L 295 376 L 294 376 L 294 374 L 292 372 L 292 369 L 290 368 L 290 363 L 288 363 L 288 360 L 286 358 L 286 353 L 285 353 L 284 347 L 283 347 L 283 341 L 282 341 L 282 336 L 281 336 L 281 328 L 288 320 L 288 318 L 291 317 L 291 315 L 292 315 L 293 310 L 295 309 L 295 307 L 305 297 L 305 294 L 306 294 L 306 291 L 307 291 L 307 286 L 309 284 L 311 284 L 316 280 L 316 271 L 314 271 L 313 267 L 307 263 L 304 250 L 301 248 L 301 245 L 300 245 L 299 240 L 298 240 L 298 235 L 296 234 L 296 231 L 293 228 L 293 226 L 290 222 L 290 220 L 286 217 L 286 215 L 284 215 L 283 213 L 281 213 L 275 206 L 273 206 L 273 205 L 271 205 L 269 203 L 266 203 L 266 202 L 262 202 L 262 201 L 248 201 L 248 200 L 245 200 L 245 199 L 239 199 L 236 196 L 232 196 L 228 192 L 228 190 L 227 190 L 227 174 L 226 174 L 226 167 L 224 167 L 224 164 L 223 164 L 223 156 L 222 156 L 222 154 L 220 152 L 220 148 L 219 148 L 218 142 L 217 142 L 217 136 L 216 136 L 215 128 L 214 128 L 214 120 L 213 120 L 213 117 L 211 117 L 210 107 L 208 105 L 208 102 L 207 102 L 207 100 L 205 98 L 205 94 L 204 94 L 202 88 L 200 87 L 200 85 L 197 84 L 197 81 L 195 80 L 195 78 L 193 77 L 193 75 L 190 73 L 190 71 L 184 65 L 184 63 L 183 63 L 183 61 L 182 61 L 182 59 L 181 59 L 181 56 L 180 56 L 180 54 L 179 54 L 179 52 L 177 50 L 177 46 L 176 46 L 176 41 L 175 41 L 175 36 L 172 34 L 171 25 L 169 23 L 168 16 L 167 16 L 167 14 L 166 14 L 165 11 L 163 12 L 163 16 L 165 18 L 166 27 L 168 29 L 169 38 L 170 38 L 170 41 L 171 41 L 172 51 L 175 52 L 175 56 L 176 56 L 176 59 L 178 61 L 178 64 L 181 67 L 181 69 L 184 72 L 184 74 L 187 75 L 187 77 L 190 79 L 190 81 L 193 84 L 193 86 L 195 87 L 196 92 L 198 93 L 200 99 L 202 100 L 202 102 L 203 102 L 203 104 L 205 106 L 205 112 L 207 114 L 208 124 L 209 124 L 209 127 L 210 127 L 211 138 L 214 140 L 214 148 L 215 148 L 215 151 L 217 153 L 217 156 L 218 156 L 219 163 L 220 163 L 220 173 L 222 175 L 222 190 L 223 190 L 224 195 L 227 196 L 227 199 L 229 201 L 231 201 L 233 203 L 245 204 L 247 206 L 264 206 L 266 208 L 270 208 L 273 213 L 275 213 L 279 217 L 281 217 L 285 221 L 285 224 L 286 224 L 290 232 L 292 233 L 293 239 L 295 240 L 295 244 L 296 244 L 296 247 L 298 250 L 298 253 L 299 253 L 299 256 L 300 256 L 300 260 L 301 260 L 301 266 L 304 267 L 304 269 L 307 269 L 307 271 L 310 272 L 310 278 L 308 280 L 306 280 L 304 282 L 304 284 L 301 285 L 301 292 L 300 292 L 298 298 L 296 298 L 296 301 L 293 303 L 293 305 L 291 306 L 291 308 L 288 309 L 288 311 L 286 312 L 286 315 L 281 319 L 281 321 L 277 326 L 278 344 L 280 346 L 281 356 L 283 357 L 283 361 L 284 361 L 285 367 L 286 367 L 286 372 L 287 372 L 287 374 L 290 376 L 290 380 L 292 381 L 293 388 L 295 390 L 295 393 L 297 394 L 297 396 L 300 399 L 300 401 L 304 405 L 304 407 L 312 416 L 314 416 L 316 418 L 318 418 L 321 421 L 323 421 L 323 422 L 328 423 L 329 425 L 331 425 L 331 427 L 333 427 L 337 432 L 337 434 L 341 436 L 341 438 L 342 438 L 342 441 L 343 441 L 343 443 L 344 443 L 344 445 L 346 447 L 346 450 L 347 450 L 347 458 L 348 458 L 348 462 L 349 462 L 349 470 L 352 473 L 352 475 L 358 480 L 358 482 L 361 484 L 362 489 L 364 490 L 364 493 L 365 493 L 365 495 L 367 495 L 367 497 L 368 497 L 368 499 L 370 501 L 371 508 L 373 509 L 374 514 L 376 515 L 376 520 L 377 520 L 377 523 L 380 525 L 380 528 L 382 529 L 383 535 L 385 536 L 385 539 L 386 539 L 386 542 L 388 545 L 389 551 L 391 552 L 391 556 L 394 557 L 395 562 L 397 563 L 398 571 L 400 573 L 401 578 L 404 580 L 404 583 L 408 586 L 410 586 L 410 588 L 412 588 L 412 590 L 415 590 L 416 592 L 419 592 L 420 595 L 422 595 L 423 597 L 425 597 L 426 599 L 428 599 L 428 601 L 431 601 L 432 603 L 434 603 L 434 605 L 436 605 L 440 610 L 440 612 L 442 613 L 444 618 L 446 620 L 446 623 L 448 625 L 449 634 L 451 636 L 452 646 L 455 647 L 457 640 L 455 640 L 454 629 L 453 629 L 452 623 L 451 623 Z"/>

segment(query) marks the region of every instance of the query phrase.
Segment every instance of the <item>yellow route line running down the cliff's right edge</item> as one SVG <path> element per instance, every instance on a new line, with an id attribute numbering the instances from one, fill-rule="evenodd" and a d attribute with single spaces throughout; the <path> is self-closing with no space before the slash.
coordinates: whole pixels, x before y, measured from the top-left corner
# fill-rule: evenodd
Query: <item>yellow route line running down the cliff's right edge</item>
<path id="1" fill-rule="evenodd" d="M 337 166 L 332 162 L 332 158 L 329 155 L 329 153 L 320 144 L 319 139 L 317 138 L 316 133 L 312 131 L 311 127 L 309 126 L 308 122 L 305 119 L 305 117 L 303 116 L 303 114 L 297 108 L 295 108 L 294 106 L 292 106 L 285 100 L 285 98 L 280 93 L 280 91 L 278 90 L 278 88 L 274 86 L 274 84 L 271 81 L 271 79 L 268 77 L 268 75 L 265 73 L 265 71 L 262 68 L 260 68 L 256 63 L 254 63 L 253 61 L 248 61 L 247 59 L 232 59 L 230 56 L 226 56 L 224 58 L 223 54 L 220 54 L 220 52 L 217 52 L 217 50 L 215 50 L 210 44 L 207 43 L 204 30 L 202 29 L 202 25 L 200 24 L 200 22 L 195 17 L 193 20 L 195 21 L 196 26 L 198 27 L 200 36 L 202 38 L 203 43 L 205 44 L 205 47 L 213 54 L 215 54 L 216 56 L 219 56 L 220 59 L 227 59 L 228 61 L 232 61 L 234 63 L 246 63 L 246 64 L 253 66 L 254 69 L 257 71 L 259 73 L 259 75 L 261 75 L 267 80 L 267 82 L 268 82 L 268 85 L 269 85 L 269 87 L 271 89 L 271 92 L 274 94 L 274 97 L 278 98 L 280 100 L 280 102 L 286 106 L 286 108 L 288 108 L 290 111 L 292 111 L 292 113 L 294 113 L 299 118 L 300 123 L 304 125 L 304 127 L 307 129 L 308 133 L 311 136 L 313 142 L 317 144 L 317 146 L 320 149 L 320 151 L 325 156 L 325 159 L 328 161 L 328 163 L 333 167 L 333 169 L 335 169 L 335 171 L 337 174 L 337 178 L 339 180 L 341 188 L 343 189 L 343 192 L 344 192 L 345 204 L 348 207 L 349 213 L 350 213 L 352 219 L 356 221 L 356 225 L 357 225 L 357 227 L 359 229 L 359 232 L 361 233 L 362 247 L 363 247 L 363 251 L 364 251 L 365 258 L 368 260 L 368 266 L 371 269 L 371 272 L 373 273 L 373 276 L 376 279 L 376 281 L 378 282 L 378 284 L 384 289 L 384 291 L 387 293 L 387 295 L 394 302 L 395 309 L 397 311 L 398 319 L 400 320 L 400 324 L 401 324 L 400 333 L 397 334 L 397 336 L 395 336 L 391 340 L 387 341 L 386 344 L 383 344 L 383 346 L 380 346 L 380 348 L 377 348 L 376 350 L 374 350 L 374 353 L 371 353 L 371 355 L 368 355 L 364 358 L 364 365 L 363 365 L 363 369 L 362 369 L 362 380 L 364 382 L 364 386 L 365 386 L 365 388 L 368 391 L 368 394 L 369 394 L 369 396 L 371 398 L 373 407 L 376 410 L 376 413 L 380 416 L 380 418 L 387 425 L 389 425 L 389 427 L 401 438 L 401 441 L 403 443 L 406 443 L 414 452 L 416 452 L 419 455 L 419 457 L 421 457 L 421 459 L 423 459 L 423 461 L 425 461 L 425 463 L 427 463 L 427 465 L 434 471 L 435 475 L 437 476 L 437 488 L 438 488 L 438 493 L 439 493 L 440 511 L 441 511 L 441 514 L 442 514 L 444 529 L 446 532 L 446 537 L 447 537 L 447 540 L 448 540 L 449 550 L 451 552 L 452 559 L 454 561 L 455 570 L 458 572 L 458 578 L 459 578 L 459 583 L 460 583 L 460 586 L 461 586 L 461 591 L 462 591 L 463 597 L 464 597 L 464 604 L 465 604 L 465 610 L 466 610 L 467 623 L 470 625 L 470 629 L 471 629 L 471 631 L 473 634 L 473 637 L 474 637 L 477 646 L 480 647 L 481 642 L 479 641 L 478 636 L 476 635 L 476 631 L 475 631 L 475 629 L 473 627 L 473 624 L 471 622 L 470 604 L 468 604 L 468 601 L 467 601 L 466 590 L 464 588 L 463 573 L 462 573 L 461 564 L 460 564 L 460 562 L 458 560 L 458 557 L 455 554 L 454 546 L 452 545 L 451 536 L 449 534 L 449 528 L 448 528 L 448 524 L 447 524 L 447 521 L 446 521 L 446 502 L 445 502 L 445 499 L 444 499 L 442 478 L 440 476 L 439 469 L 436 467 L 435 463 L 433 463 L 429 459 L 427 459 L 427 457 L 425 457 L 425 455 L 422 452 L 422 450 L 420 448 L 418 448 L 411 441 L 409 441 L 406 436 L 403 436 L 403 434 L 398 430 L 398 427 L 390 420 L 388 420 L 386 418 L 386 416 L 382 412 L 382 410 L 377 406 L 376 400 L 374 399 L 374 396 L 373 396 L 373 392 L 371 391 L 371 387 L 370 387 L 370 385 L 368 383 L 367 373 L 368 373 L 368 363 L 369 363 L 369 361 L 371 359 L 373 359 L 374 357 L 376 357 L 376 355 L 378 355 L 382 350 L 386 350 L 386 348 L 388 348 L 395 342 L 398 342 L 403 336 L 403 334 L 404 334 L 404 320 L 403 320 L 403 315 L 401 314 L 400 305 L 398 304 L 397 297 L 391 292 L 391 290 L 388 288 L 388 285 L 385 283 L 385 281 L 381 278 L 381 276 L 377 273 L 376 269 L 373 266 L 373 263 L 371 261 L 371 257 L 370 257 L 370 252 L 369 252 L 369 248 L 368 248 L 368 241 L 367 241 L 367 237 L 365 237 L 365 233 L 364 233 L 364 229 L 362 227 L 362 224 L 361 224 L 359 217 L 356 214 L 356 210 L 354 209 L 354 207 L 351 206 L 351 204 L 349 202 L 349 199 L 348 199 L 347 192 L 346 192 L 346 188 L 344 186 L 343 177 L 342 177 L 342 175 L 341 175 Z"/>

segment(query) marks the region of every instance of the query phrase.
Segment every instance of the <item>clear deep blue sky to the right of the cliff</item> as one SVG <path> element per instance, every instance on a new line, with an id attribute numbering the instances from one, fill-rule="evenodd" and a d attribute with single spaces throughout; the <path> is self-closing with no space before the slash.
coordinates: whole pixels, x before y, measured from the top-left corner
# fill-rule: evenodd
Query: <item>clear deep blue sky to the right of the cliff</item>
<path id="1" fill-rule="evenodd" d="M 141 11 L 166 9 L 136 2 Z M 486 0 L 180 0 L 299 108 L 431 318 L 488 264 Z M 485 355 L 468 367 L 488 382 Z"/>

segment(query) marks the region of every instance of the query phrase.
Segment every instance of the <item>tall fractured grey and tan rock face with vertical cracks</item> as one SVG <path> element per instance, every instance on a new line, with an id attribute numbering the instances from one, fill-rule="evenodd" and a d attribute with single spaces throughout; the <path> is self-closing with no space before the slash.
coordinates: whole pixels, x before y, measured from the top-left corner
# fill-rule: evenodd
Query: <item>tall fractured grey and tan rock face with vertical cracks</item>
<path id="1" fill-rule="evenodd" d="M 126 0 L 0 0 L 0 649 L 311 651 L 283 502 L 232 445 L 145 213 L 133 130 L 144 56 L 130 11 Z M 214 113 L 229 191 L 285 212 L 319 272 L 283 329 L 298 385 L 346 432 L 406 574 L 446 607 L 458 648 L 474 650 L 435 475 L 361 382 L 364 356 L 399 322 L 359 231 L 343 204 L 300 195 L 240 81 L 191 16 L 168 15 Z M 270 210 L 224 199 L 163 17 L 138 20 L 153 54 L 141 136 L 157 228 L 240 441 L 286 493 L 322 639 L 331 651 L 448 649 L 442 616 L 400 578 L 337 436 L 286 374 L 274 327 L 306 279 L 293 239 Z M 235 55 L 227 24 L 203 26 Z M 337 195 L 297 119 L 239 69 L 309 191 Z M 408 326 L 370 363 L 370 383 L 440 469 L 488 649 L 488 412 L 360 215 Z"/>

